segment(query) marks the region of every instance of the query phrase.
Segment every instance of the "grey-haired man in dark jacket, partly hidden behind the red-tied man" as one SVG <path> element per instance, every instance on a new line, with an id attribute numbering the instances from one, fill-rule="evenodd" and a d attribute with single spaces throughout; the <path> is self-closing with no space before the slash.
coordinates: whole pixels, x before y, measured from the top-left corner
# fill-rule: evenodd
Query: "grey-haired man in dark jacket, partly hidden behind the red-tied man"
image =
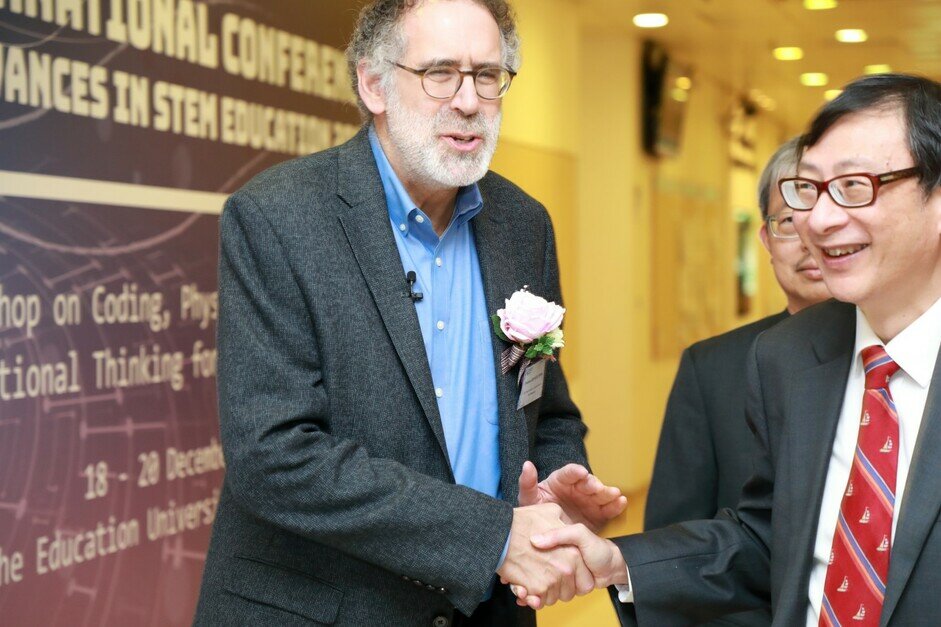
<path id="1" fill-rule="evenodd" d="M 745 361 L 755 338 L 790 314 L 830 297 L 820 269 L 794 228 L 778 180 L 797 171 L 797 138 L 774 153 L 761 174 L 761 241 L 771 256 L 787 309 L 683 352 L 667 403 L 644 528 L 712 518 L 734 508 L 751 474 L 755 438 L 745 422 Z M 714 625 L 768 625 L 767 610 L 730 615 Z"/>

